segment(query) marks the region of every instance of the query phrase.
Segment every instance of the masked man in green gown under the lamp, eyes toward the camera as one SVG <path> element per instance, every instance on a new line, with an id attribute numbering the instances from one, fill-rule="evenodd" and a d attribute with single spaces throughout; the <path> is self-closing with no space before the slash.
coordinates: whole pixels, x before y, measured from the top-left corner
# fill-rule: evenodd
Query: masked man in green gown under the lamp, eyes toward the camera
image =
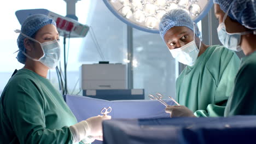
<path id="1" fill-rule="evenodd" d="M 168 11 L 159 31 L 173 58 L 187 65 L 176 80 L 176 100 L 181 106 L 171 106 L 178 109 L 171 117 L 186 116 L 179 112 L 185 106 L 197 117 L 224 115 L 240 65 L 236 53 L 224 46 L 203 44 L 197 25 L 182 9 Z"/>

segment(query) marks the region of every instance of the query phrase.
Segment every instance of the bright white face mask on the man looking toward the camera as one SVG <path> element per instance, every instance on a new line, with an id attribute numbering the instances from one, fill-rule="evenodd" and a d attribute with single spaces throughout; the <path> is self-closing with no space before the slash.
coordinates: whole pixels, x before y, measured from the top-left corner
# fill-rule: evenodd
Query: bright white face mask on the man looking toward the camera
<path id="1" fill-rule="evenodd" d="M 200 46 L 201 47 L 201 41 Z M 194 40 L 190 43 L 179 47 L 178 49 L 169 50 L 172 54 L 172 57 L 177 59 L 178 62 L 192 66 L 195 64 L 197 56 L 199 54 L 199 49 L 195 43 L 195 26 L 194 26 Z"/>

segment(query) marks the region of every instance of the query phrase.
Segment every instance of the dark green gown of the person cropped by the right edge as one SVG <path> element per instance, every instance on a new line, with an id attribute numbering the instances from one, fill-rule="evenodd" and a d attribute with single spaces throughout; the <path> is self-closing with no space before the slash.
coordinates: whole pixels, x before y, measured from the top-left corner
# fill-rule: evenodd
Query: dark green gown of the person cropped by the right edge
<path id="1" fill-rule="evenodd" d="M 224 116 L 256 115 L 256 52 L 241 60 Z"/>

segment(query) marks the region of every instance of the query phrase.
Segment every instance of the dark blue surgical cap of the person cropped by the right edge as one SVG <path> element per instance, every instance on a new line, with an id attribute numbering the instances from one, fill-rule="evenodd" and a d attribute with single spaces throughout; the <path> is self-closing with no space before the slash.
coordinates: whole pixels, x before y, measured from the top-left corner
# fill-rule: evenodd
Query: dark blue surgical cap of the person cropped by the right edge
<path id="1" fill-rule="evenodd" d="M 228 16 L 248 29 L 256 29 L 255 0 L 214 0 Z"/>

